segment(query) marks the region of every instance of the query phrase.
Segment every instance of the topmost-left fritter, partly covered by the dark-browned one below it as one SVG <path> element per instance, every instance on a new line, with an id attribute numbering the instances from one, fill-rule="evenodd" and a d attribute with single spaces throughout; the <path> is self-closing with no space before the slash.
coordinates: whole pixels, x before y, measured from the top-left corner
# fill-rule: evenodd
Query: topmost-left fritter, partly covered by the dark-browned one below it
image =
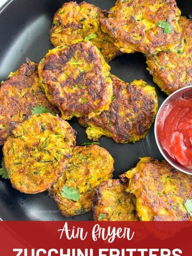
<path id="1" fill-rule="evenodd" d="M 93 4 L 67 2 L 56 12 L 50 30 L 50 40 L 56 46 L 71 44 L 74 40 L 83 40 L 95 34 L 90 41 L 101 51 L 107 62 L 120 54 L 114 40 L 104 33 L 99 18 L 106 18 L 108 12 Z"/>

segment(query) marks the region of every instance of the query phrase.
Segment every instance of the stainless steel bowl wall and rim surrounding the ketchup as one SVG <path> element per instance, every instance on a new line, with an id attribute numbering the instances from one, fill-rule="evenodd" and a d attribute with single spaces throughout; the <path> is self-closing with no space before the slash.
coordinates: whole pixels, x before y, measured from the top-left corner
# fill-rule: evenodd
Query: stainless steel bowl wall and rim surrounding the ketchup
<path id="1" fill-rule="evenodd" d="M 161 143 L 158 139 L 157 123 L 158 123 L 158 118 L 161 114 L 162 108 L 166 105 L 171 104 L 173 101 L 175 101 L 176 99 L 178 99 L 180 97 L 192 98 L 192 86 L 183 87 L 183 88 L 177 90 L 176 92 L 172 93 L 170 96 L 168 96 L 166 98 L 166 100 L 164 100 L 164 102 L 162 103 L 162 105 L 160 106 L 160 108 L 157 112 L 157 116 L 156 116 L 156 119 L 155 119 L 155 126 L 154 126 L 155 140 L 156 140 L 157 146 L 158 146 L 162 156 L 165 158 L 165 160 L 170 165 L 172 165 L 175 169 L 177 169 L 181 172 L 192 175 L 192 169 L 191 168 L 186 168 L 186 167 L 180 166 L 172 158 L 170 158 L 170 156 L 168 154 L 166 154 L 166 152 L 163 150 L 163 148 L 161 146 Z"/>

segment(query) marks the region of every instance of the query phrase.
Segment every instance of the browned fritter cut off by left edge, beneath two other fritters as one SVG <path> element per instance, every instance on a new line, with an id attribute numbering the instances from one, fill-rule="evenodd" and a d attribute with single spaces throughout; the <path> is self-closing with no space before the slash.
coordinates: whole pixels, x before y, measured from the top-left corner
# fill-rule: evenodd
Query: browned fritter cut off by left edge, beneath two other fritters
<path id="1" fill-rule="evenodd" d="M 57 113 L 41 89 L 38 64 L 29 59 L 20 68 L 10 73 L 0 87 L 0 145 L 11 135 L 14 125 L 32 115 L 32 109 L 41 105 Z"/>

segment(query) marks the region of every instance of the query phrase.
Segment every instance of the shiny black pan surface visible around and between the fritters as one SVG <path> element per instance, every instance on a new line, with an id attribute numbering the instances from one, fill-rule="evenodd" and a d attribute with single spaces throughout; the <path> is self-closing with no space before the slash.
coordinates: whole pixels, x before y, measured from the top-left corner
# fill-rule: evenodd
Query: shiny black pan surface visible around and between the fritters
<path id="1" fill-rule="evenodd" d="M 49 40 L 49 30 L 56 10 L 62 6 L 62 0 L 12 0 L 0 10 L 0 80 L 25 62 L 26 57 L 39 62 L 48 49 L 53 48 Z M 77 1 L 81 2 L 81 1 Z M 115 0 L 87 0 L 87 2 L 109 10 Z M 182 15 L 192 18 L 191 0 L 178 0 Z M 124 81 L 143 79 L 156 88 L 159 104 L 166 94 L 154 84 L 152 76 L 146 70 L 146 58 L 143 54 L 124 54 L 110 62 L 111 72 Z M 70 124 L 77 131 L 77 145 L 88 141 L 85 129 L 75 119 Z M 145 139 L 135 144 L 117 144 L 112 139 L 100 139 L 101 146 L 114 157 L 115 172 L 118 174 L 134 167 L 139 157 L 153 156 L 162 159 L 154 138 L 154 126 Z M 2 147 L 0 148 L 2 158 Z M 12 188 L 9 180 L 0 178 L 0 218 L 2 220 L 92 220 L 92 213 L 72 218 L 64 218 L 47 192 L 36 195 L 22 194 Z"/>

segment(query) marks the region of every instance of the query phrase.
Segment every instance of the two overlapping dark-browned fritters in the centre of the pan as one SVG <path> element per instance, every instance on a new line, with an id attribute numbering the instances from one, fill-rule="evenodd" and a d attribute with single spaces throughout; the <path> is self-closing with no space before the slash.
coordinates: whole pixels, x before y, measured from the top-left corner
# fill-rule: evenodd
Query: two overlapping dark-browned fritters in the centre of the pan
<path id="1" fill-rule="evenodd" d="M 46 96 L 63 119 L 73 116 L 87 129 L 88 138 L 102 135 L 116 142 L 144 138 L 156 116 L 154 87 L 142 80 L 130 85 L 110 74 L 102 54 L 89 41 L 54 48 L 41 60 L 39 75 Z"/>

